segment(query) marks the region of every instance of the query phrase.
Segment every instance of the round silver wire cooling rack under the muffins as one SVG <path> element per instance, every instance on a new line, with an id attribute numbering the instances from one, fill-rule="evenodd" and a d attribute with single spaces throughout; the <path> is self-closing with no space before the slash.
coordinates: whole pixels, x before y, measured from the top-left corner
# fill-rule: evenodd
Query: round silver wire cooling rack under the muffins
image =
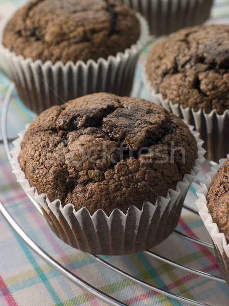
<path id="1" fill-rule="evenodd" d="M 8 157 L 9 160 L 11 158 L 10 148 L 9 148 L 9 142 L 11 141 L 11 139 L 9 139 L 8 136 L 7 136 L 6 125 L 7 125 L 8 106 L 9 106 L 9 103 L 10 103 L 10 100 L 11 100 L 11 96 L 12 96 L 12 92 L 14 90 L 14 87 L 15 87 L 14 83 L 11 83 L 10 86 L 9 86 L 8 92 L 6 94 L 6 97 L 5 97 L 3 111 L 2 111 L 3 142 L 4 142 L 6 154 L 7 154 L 7 157 Z M 140 88 L 139 88 L 139 90 L 140 90 Z M 41 212 L 40 208 L 38 207 L 37 203 L 32 198 L 30 198 L 30 200 L 33 202 L 33 204 L 36 206 L 36 208 L 42 214 L 42 212 Z M 187 203 L 184 204 L 183 209 L 184 210 L 189 210 L 192 213 L 197 214 L 197 210 L 193 206 L 187 205 Z M 50 256 L 50 254 L 48 254 L 40 245 L 38 245 L 30 236 L 28 236 L 26 234 L 26 232 L 23 230 L 23 228 L 15 221 L 15 219 L 11 216 L 11 214 L 4 207 L 4 205 L 1 201 L 0 201 L 0 211 L 3 214 L 3 216 L 5 217 L 5 219 L 8 221 L 8 223 L 12 226 L 14 231 L 22 239 L 22 241 L 25 244 L 27 244 L 31 249 L 33 249 L 33 251 L 36 252 L 47 264 L 49 264 L 52 268 L 54 268 L 56 271 L 61 273 L 64 277 L 69 279 L 69 281 L 71 281 L 75 285 L 79 286 L 81 289 L 89 292 L 90 294 L 94 295 L 96 298 L 106 302 L 109 305 L 122 305 L 122 306 L 127 305 L 126 303 L 122 302 L 121 300 L 113 298 L 112 296 L 102 292 L 101 290 L 94 287 L 92 284 L 90 284 L 88 282 L 85 282 L 82 278 L 78 277 L 72 271 L 68 270 L 66 267 L 64 267 L 62 264 L 60 264 L 54 258 L 52 258 Z M 177 230 L 175 230 L 172 235 L 176 235 L 177 237 L 179 237 L 179 239 L 181 240 L 181 243 L 182 243 L 182 241 L 188 241 L 189 243 L 199 244 L 199 245 L 205 246 L 209 249 L 213 249 L 212 244 L 210 244 L 208 242 L 205 242 L 205 241 L 202 241 L 202 240 L 199 240 L 199 239 L 196 239 L 196 238 L 193 238 L 191 236 L 185 235 L 185 234 L 183 234 L 183 233 L 181 233 Z M 165 263 L 167 265 L 171 265 L 173 267 L 182 269 L 182 270 L 184 270 L 184 271 L 186 271 L 190 274 L 195 274 L 195 275 L 204 277 L 205 279 L 210 279 L 211 281 L 219 282 L 219 283 L 222 284 L 222 286 L 226 286 L 224 279 L 220 276 L 212 275 L 210 273 L 206 273 L 206 272 L 203 272 L 203 271 L 198 270 L 198 269 L 190 268 L 186 265 L 181 265 L 181 264 L 176 263 L 176 262 L 174 262 L 174 261 L 172 261 L 172 260 L 170 260 L 166 257 L 163 257 L 163 256 L 161 256 L 161 255 L 159 255 L 156 252 L 153 252 L 151 250 L 144 251 L 144 253 L 147 256 L 149 256 L 151 258 L 154 258 L 154 259 L 157 259 L 159 261 L 162 261 L 163 263 Z M 199 306 L 212 306 L 210 304 L 206 304 L 206 303 L 201 302 L 201 301 L 196 301 L 196 300 L 189 299 L 189 298 L 186 298 L 184 296 L 180 296 L 178 294 L 169 292 L 167 290 L 164 290 L 163 288 L 153 286 L 150 283 L 142 281 L 140 278 L 137 278 L 137 277 L 133 276 L 133 274 L 127 273 L 124 270 L 120 269 L 119 267 L 110 264 L 107 260 L 104 260 L 99 256 L 96 256 L 96 255 L 93 255 L 93 254 L 88 254 L 88 255 L 94 261 L 96 261 L 99 264 L 103 265 L 104 267 L 110 269 L 111 275 L 112 275 L 112 273 L 118 273 L 123 278 L 129 279 L 132 282 L 134 282 L 135 284 L 146 287 L 147 289 L 150 289 L 154 292 L 163 294 L 163 295 L 165 295 L 167 297 L 170 297 L 174 300 L 179 300 L 179 301 L 181 301 L 185 304 L 199 305 Z"/>

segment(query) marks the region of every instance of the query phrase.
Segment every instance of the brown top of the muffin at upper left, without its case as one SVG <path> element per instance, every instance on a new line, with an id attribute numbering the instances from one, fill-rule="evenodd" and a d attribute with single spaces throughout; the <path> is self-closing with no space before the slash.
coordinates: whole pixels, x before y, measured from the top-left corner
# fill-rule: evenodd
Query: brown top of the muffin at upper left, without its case
<path id="1" fill-rule="evenodd" d="M 4 45 L 33 60 L 76 62 L 107 58 L 136 43 L 134 11 L 115 0 L 33 0 L 4 31 Z"/>

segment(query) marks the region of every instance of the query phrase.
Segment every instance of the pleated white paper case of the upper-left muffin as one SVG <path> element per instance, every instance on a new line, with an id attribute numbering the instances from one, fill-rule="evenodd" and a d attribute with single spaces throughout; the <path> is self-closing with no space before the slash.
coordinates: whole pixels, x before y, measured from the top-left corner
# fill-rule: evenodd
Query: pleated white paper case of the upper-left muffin
<path id="1" fill-rule="evenodd" d="M 4 58 L 19 97 L 30 110 L 40 114 L 53 105 L 61 105 L 68 100 L 94 92 L 111 92 L 129 96 L 135 65 L 139 52 L 149 37 L 146 19 L 139 13 L 140 36 L 136 44 L 124 53 L 99 58 L 97 62 L 51 61 L 24 59 L 1 46 L 0 55 Z"/>

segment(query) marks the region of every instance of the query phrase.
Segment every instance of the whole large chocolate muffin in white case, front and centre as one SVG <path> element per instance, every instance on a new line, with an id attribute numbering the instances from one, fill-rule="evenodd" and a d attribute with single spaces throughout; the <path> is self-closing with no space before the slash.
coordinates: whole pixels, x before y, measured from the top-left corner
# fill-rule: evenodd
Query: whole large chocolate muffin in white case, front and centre
<path id="1" fill-rule="evenodd" d="M 204 161 L 202 143 L 160 106 L 95 93 L 40 114 L 14 142 L 11 163 L 63 241 L 130 254 L 174 231 Z"/>

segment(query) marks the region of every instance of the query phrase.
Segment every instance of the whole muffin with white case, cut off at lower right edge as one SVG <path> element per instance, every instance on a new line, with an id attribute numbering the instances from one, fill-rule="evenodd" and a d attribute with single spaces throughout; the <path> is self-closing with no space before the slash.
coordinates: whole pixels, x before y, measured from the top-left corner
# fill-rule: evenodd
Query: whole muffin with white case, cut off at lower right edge
<path id="1" fill-rule="evenodd" d="M 229 155 L 206 173 L 196 205 L 213 241 L 217 264 L 229 285 Z"/>

